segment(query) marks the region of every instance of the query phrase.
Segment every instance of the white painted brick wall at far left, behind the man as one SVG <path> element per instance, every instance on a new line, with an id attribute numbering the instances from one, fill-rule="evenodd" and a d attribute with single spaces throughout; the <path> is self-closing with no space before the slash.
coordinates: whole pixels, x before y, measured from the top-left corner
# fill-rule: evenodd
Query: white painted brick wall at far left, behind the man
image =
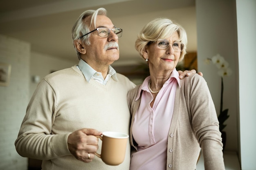
<path id="1" fill-rule="evenodd" d="M 0 35 L 0 62 L 11 64 L 9 86 L 0 86 L 0 170 L 27 170 L 14 141 L 29 100 L 30 44 Z"/>

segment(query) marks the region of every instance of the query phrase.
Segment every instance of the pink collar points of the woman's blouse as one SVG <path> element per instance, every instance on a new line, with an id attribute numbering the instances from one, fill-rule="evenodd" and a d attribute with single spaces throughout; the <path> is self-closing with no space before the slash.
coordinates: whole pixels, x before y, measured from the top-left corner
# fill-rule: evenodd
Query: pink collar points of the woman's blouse
<path id="1" fill-rule="evenodd" d="M 166 87 L 168 84 L 170 84 L 173 80 L 176 80 L 177 84 L 180 87 L 180 77 L 179 77 L 179 73 L 177 72 L 176 68 L 173 69 L 171 76 L 168 78 L 168 80 L 164 83 L 163 88 Z M 148 82 L 150 81 L 150 76 L 146 77 L 146 79 L 143 81 L 143 83 L 141 84 L 141 86 L 139 87 L 139 92 L 138 95 L 136 97 L 135 100 L 138 100 L 140 95 L 141 95 L 141 91 L 147 91 L 150 93 L 149 89 L 148 89 Z"/>

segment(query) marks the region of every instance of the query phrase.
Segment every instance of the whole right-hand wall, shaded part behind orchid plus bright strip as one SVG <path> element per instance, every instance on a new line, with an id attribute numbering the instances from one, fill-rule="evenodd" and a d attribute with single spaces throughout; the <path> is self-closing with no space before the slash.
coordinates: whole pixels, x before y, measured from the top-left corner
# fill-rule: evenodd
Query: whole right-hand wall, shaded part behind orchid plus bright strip
<path id="1" fill-rule="evenodd" d="M 220 81 L 213 66 L 203 60 L 220 53 L 231 65 L 233 76 L 224 80 L 224 108 L 228 150 L 237 151 L 241 170 L 255 170 L 256 161 L 256 1 L 196 0 L 198 68 L 219 108 Z"/>

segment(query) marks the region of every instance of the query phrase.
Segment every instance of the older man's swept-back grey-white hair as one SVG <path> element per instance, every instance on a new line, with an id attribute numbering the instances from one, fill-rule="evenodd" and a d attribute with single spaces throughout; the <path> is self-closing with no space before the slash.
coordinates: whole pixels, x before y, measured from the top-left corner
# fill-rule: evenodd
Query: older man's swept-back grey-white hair
<path id="1" fill-rule="evenodd" d="M 87 10 L 84 11 L 79 18 L 77 18 L 73 28 L 72 28 L 72 39 L 73 39 L 73 46 L 76 50 L 76 55 L 78 56 L 78 59 L 80 60 L 80 53 L 77 51 L 76 46 L 74 44 L 74 40 L 79 39 L 82 35 L 85 35 L 86 33 L 90 32 L 90 26 L 92 23 L 94 24 L 94 29 L 96 29 L 96 19 L 97 15 L 107 15 L 107 10 L 105 8 L 99 8 L 97 10 Z M 90 19 L 90 25 L 86 25 L 86 21 Z M 81 40 L 85 42 L 85 44 L 90 45 L 90 34 L 85 35 Z"/>

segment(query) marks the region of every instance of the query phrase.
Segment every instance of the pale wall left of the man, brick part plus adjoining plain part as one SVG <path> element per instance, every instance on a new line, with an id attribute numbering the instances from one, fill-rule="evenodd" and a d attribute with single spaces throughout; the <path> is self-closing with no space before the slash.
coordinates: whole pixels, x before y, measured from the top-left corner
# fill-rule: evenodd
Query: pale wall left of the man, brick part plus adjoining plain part
<path id="1" fill-rule="evenodd" d="M 29 43 L 0 35 L 0 63 L 11 64 L 9 86 L 0 86 L 0 170 L 27 170 L 28 159 L 18 155 L 14 141 L 37 86 L 32 77 L 78 64 L 76 58 L 75 52 L 72 61 L 31 52 Z"/>

